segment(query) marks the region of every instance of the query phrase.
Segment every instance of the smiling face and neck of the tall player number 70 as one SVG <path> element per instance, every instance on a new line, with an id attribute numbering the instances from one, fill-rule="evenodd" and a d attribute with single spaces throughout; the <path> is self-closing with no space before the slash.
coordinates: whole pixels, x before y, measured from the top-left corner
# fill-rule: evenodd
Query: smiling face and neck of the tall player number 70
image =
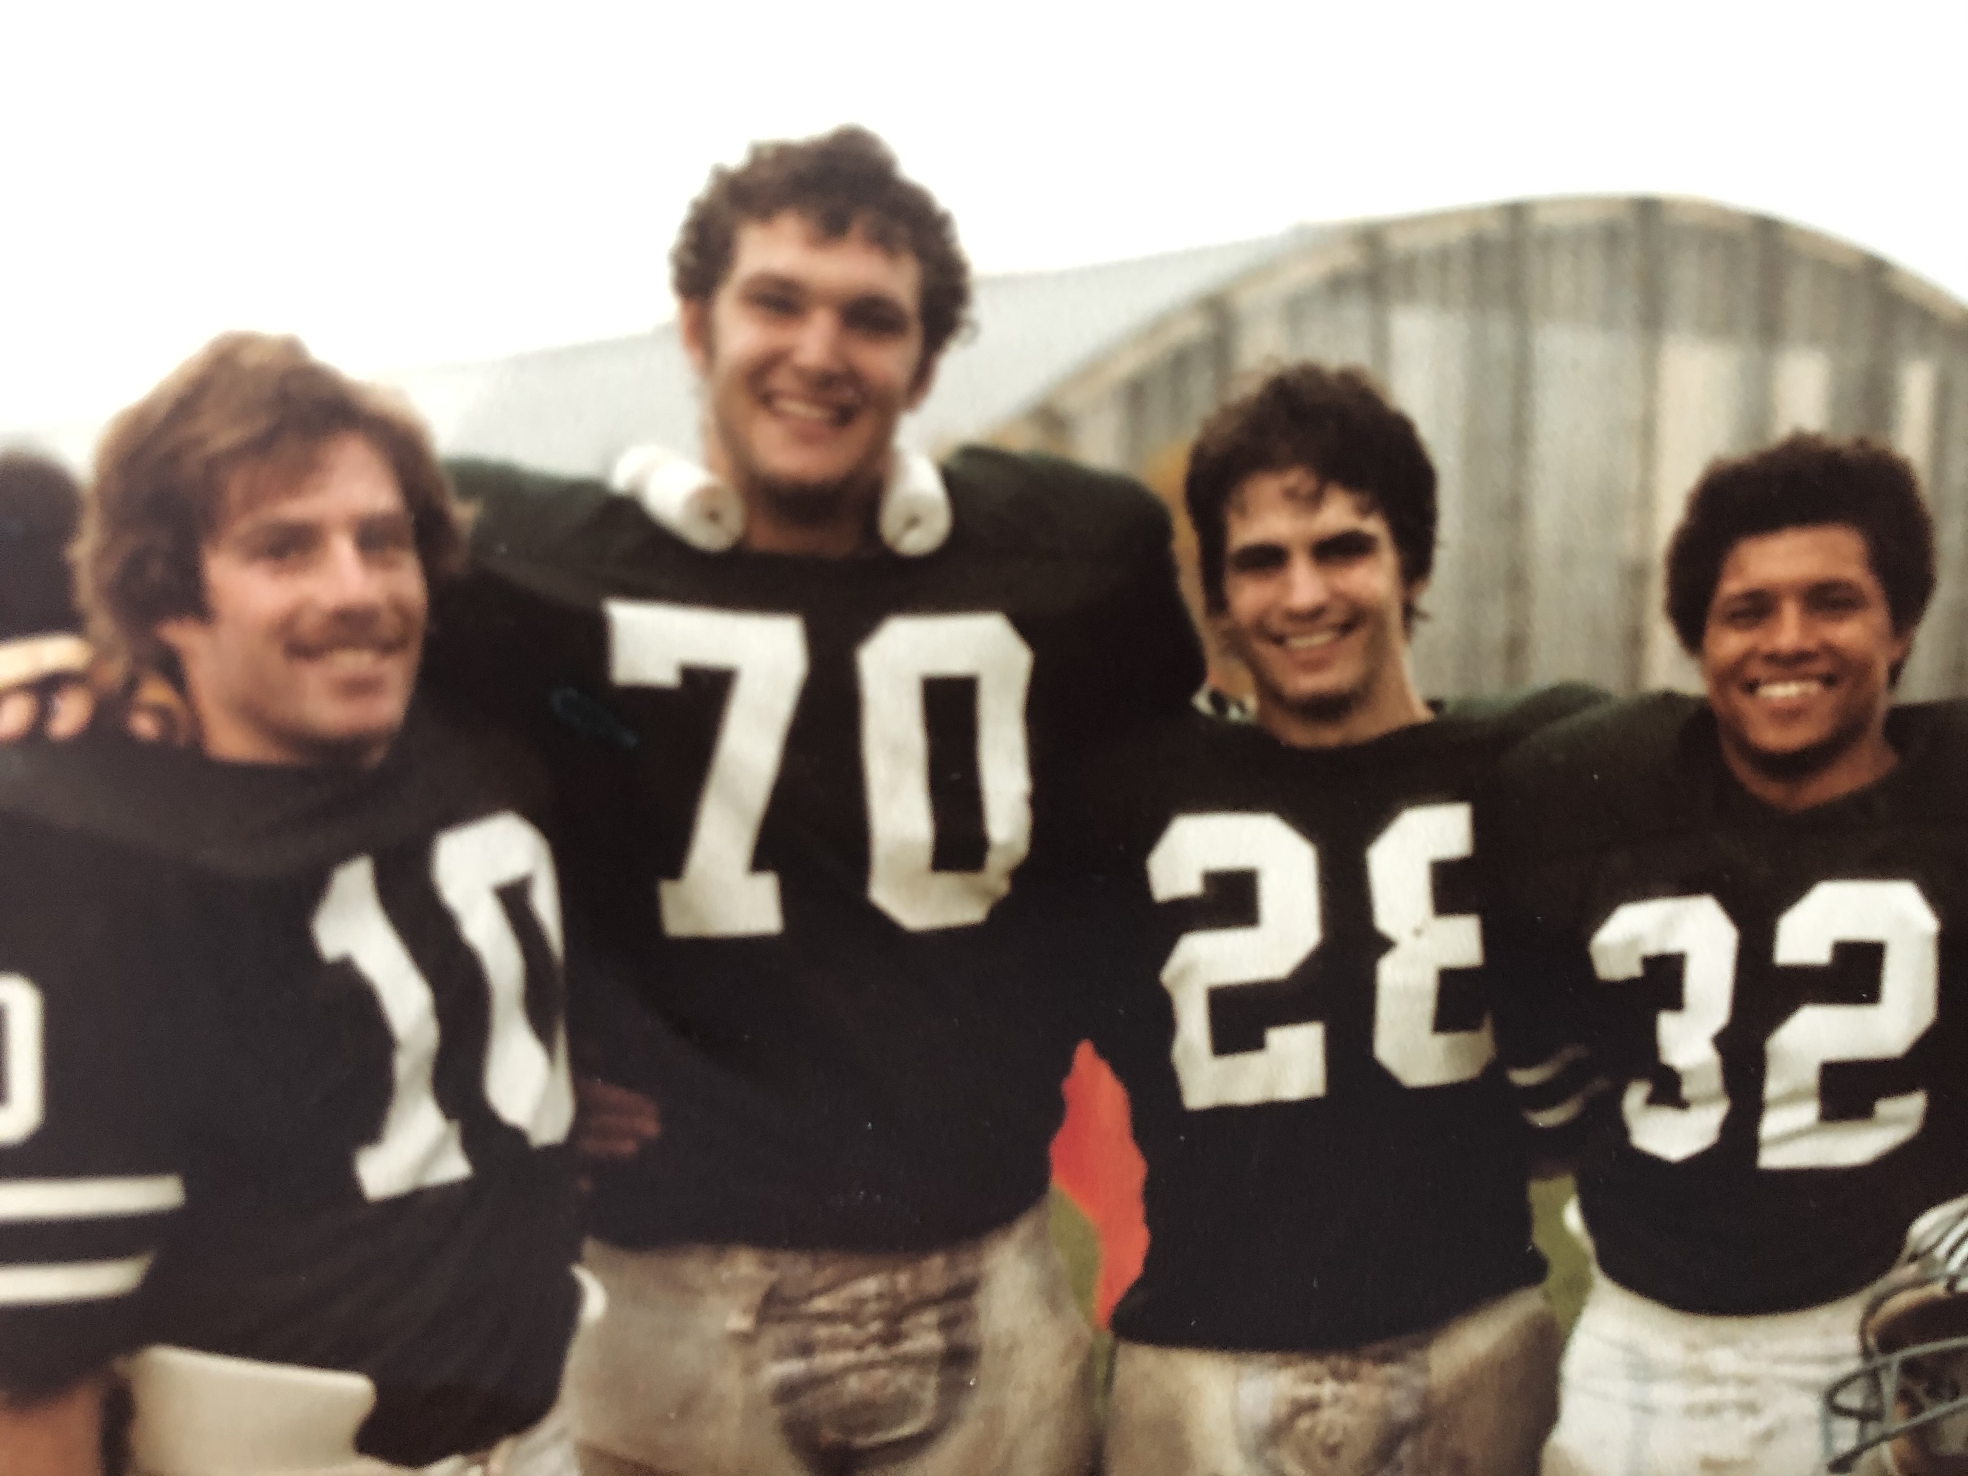
<path id="1" fill-rule="evenodd" d="M 868 541 L 895 425 L 929 392 L 919 299 L 911 254 L 783 211 L 742 224 L 716 293 L 683 303 L 707 461 L 744 500 L 748 545 Z"/>

